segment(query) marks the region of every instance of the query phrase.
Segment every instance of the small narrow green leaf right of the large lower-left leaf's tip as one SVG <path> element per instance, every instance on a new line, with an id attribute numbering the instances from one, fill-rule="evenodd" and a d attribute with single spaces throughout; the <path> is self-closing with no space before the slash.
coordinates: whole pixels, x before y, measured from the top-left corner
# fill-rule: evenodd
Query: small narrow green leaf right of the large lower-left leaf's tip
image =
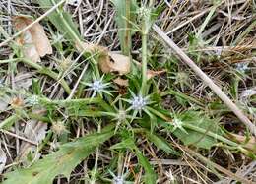
<path id="1" fill-rule="evenodd" d="M 165 153 L 170 153 L 174 155 L 179 155 L 162 137 L 157 136 L 154 133 L 151 133 L 148 130 L 145 130 L 145 136 L 152 142 L 154 145 Z"/>

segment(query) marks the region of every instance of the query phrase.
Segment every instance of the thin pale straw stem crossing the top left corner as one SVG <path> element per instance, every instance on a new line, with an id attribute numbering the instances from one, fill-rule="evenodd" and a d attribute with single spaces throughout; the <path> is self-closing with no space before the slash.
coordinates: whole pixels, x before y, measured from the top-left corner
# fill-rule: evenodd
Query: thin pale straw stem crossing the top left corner
<path id="1" fill-rule="evenodd" d="M 32 26 L 36 23 L 38 23 L 39 21 L 41 21 L 43 18 L 45 18 L 47 15 L 49 15 L 51 12 L 53 12 L 55 9 L 57 9 L 60 5 L 62 5 L 63 3 L 65 3 L 65 1 L 67 0 L 62 0 L 59 3 L 57 3 L 56 5 L 54 5 L 52 8 L 50 8 L 47 12 L 45 12 L 43 15 L 41 15 L 39 18 L 37 18 L 34 22 L 32 22 L 32 24 L 28 25 L 27 27 L 25 27 L 23 30 L 18 31 L 17 33 L 15 33 L 13 36 L 11 36 L 10 38 L 6 39 L 5 41 L 0 43 L 0 47 L 4 46 L 5 44 L 7 44 L 8 42 L 10 42 L 11 40 L 13 40 L 15 37 L 19 36 L 21 33 L 23 33 L 24 31 L 27 31 L 29 29 L 32 28 Z"/>

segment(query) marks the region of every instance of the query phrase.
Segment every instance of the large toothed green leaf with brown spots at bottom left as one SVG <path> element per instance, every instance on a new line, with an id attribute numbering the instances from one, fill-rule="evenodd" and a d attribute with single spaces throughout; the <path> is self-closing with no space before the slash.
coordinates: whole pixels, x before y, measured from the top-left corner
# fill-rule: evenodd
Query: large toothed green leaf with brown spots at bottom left
<path id="1" fill-rule="evenodd" d="M 100 144 L 114 134 L 113 126 L 101 133 L 88 135 L 61 146 L 60 150 L 46 155 L 31 167 L 18 169 L 5 175 L 3 184 L 51 184 L 57 175 L 69 177 L 72 170 Z"/>

